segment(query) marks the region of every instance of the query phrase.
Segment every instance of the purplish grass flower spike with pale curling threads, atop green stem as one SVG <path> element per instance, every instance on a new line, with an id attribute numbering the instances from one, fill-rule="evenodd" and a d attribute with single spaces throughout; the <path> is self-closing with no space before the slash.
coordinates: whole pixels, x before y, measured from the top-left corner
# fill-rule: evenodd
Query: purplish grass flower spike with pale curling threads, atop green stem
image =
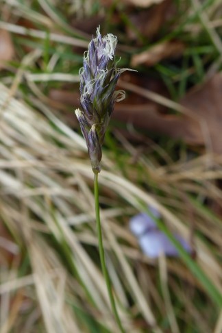
<path id="1" fill-rule="evenodd" d="M 116 68 L 115 50 L 117 38 L 112 34 L 97 37 L 84 53 L 84 66 L 80 69 L 80 103 L 82 110 L 75 110 L 94 173 L 99 173 L 101 146 L 106 128 L 112 116 L 114 103 L 125 98 L 123 90 L 115 91 L 121 73 L 127 69 Z"/>

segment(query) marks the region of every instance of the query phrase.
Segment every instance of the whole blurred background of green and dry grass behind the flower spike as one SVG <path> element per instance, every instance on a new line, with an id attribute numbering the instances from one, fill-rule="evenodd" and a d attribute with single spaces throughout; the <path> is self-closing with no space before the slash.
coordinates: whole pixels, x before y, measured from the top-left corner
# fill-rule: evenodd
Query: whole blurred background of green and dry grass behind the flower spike
<path id="1" fill-rule="evenodd" d="M 136 53 L 179 40 L 184 51 L 176 60 L 139 64 L 133 75 L 160 80 L 167 94 L 127 77 L 119 86 L 128 105 L 136 94 L 187 114 L 177 101 L 221 69 L 221 5 L 172 1 L 176 14 L 149 37 L 134 29 L 131 8 L 117 1 L 110 10 L 104 1 L 1 2 L 0 28 L 14 47 L 0 71 L 1 332 L 116 332 L 99 264 L 93 173 L 73 116 L 82 54 L 99 23 L 104 34 L 118 36 L 118 66 L 131 67 Z M 87 33 L 75 25 L 89 24 L 95 14 L 108 21 Z M 99 202 L 123 328 L 221 332 L 221 156 L 116 119 L 107 139 Z M 169 237 L 186 238 L 191 256 L 153 260 L 141 252 L 128 221 L 149 206 L 160 211 Z"/>

